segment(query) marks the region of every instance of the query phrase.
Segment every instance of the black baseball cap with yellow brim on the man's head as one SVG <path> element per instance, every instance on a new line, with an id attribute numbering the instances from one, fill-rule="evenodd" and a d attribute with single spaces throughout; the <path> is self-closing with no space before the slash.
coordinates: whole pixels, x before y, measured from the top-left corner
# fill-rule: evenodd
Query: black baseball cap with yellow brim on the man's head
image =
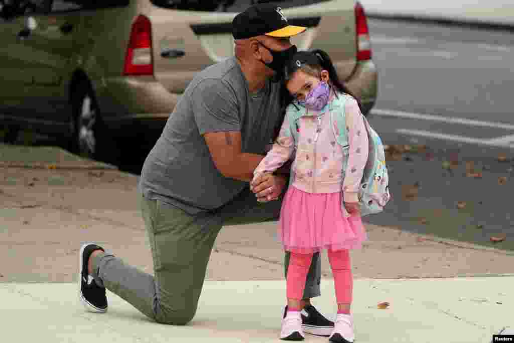
<path id="1" fill-rule="evenodd" d="M 256 4 L 237 14 L 232 21 L 234 39 L 247 39 L 258 35 L 291 37 L 307 28 L 289 25 L 282 8 L 274 4 Z"/>

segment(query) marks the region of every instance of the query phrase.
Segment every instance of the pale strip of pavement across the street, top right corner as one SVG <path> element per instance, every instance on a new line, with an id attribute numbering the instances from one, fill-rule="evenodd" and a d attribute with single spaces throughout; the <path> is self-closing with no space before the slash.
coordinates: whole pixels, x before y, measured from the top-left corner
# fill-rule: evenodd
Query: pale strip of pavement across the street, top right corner
<path id="1" fill-rule="evenodd" d="M 360 0 L 371 17 L 407 18 L 514 28 L 514 3 L 505 0 Z"/>

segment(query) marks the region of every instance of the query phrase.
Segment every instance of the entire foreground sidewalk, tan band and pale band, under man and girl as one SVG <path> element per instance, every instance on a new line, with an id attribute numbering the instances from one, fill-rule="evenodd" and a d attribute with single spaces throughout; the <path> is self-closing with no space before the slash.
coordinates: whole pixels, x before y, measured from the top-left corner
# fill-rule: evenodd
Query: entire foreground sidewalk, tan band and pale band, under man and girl
<path id="1" fill-rule="evenodd" d="M 19 157 L 10 149 L 17 148 L 0 145 L 0 155 L 12 157 L 0 167 L 4 340 L 279 341 L 285 281 L 276 223 L 222 229 L 188 326 L 156 324 L 111 293 L 107 314 L 86 313 L 74 283 L 82 242 L 95 241 L 153 273 L 137 205 L 138 178 L 80 158 L 71 168 L 68 158 L 75 157 L 59 160 L 62 150 L 53 148 L 45 154 L 34 148 L 30 163 L 6 167 Z M 512 326 L 514 275 L 506 273 L 512 273 L 514 252 L 398 228 L 366 224 L 366 229 L 369 241 L 352 251 L 358 342 L 489 342 Z M 322 273 L 323 295 L 314 304 L 334 317 L 326 253 Z M 378 309 L 384 301 L 390 308 Z"/>

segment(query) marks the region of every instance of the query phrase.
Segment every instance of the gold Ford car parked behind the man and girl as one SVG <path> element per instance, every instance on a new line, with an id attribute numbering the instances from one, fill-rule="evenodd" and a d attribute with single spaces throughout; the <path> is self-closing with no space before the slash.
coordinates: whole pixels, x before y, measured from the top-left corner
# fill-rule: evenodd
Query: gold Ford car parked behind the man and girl
<path id="1" fill-rule="evenodd" d="M 258 1 L 0 0 L 0 124 L 63 135 L 93 158 L 151 147 L 194 74 L 233 55 L 232 19 Z M 274 3 L 308 28 L 293 43 L 327 51 L 368 113 L 377 70 L 362 6 Z"/>

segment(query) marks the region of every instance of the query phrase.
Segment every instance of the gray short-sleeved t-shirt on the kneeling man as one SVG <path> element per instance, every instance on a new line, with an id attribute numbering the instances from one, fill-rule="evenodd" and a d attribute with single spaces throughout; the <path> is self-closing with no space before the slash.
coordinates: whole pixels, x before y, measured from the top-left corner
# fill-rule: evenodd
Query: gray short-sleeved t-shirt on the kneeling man
<path id="1" fill-rule="evenodd" d="M 250 94 L 235 58 L 198 73 L 144 161 L 139 183 L 143 195 L 190 214 L 232 200 L 246 183 L 224 177 L 216 169 L 201 135 L 240 131 L 243 152 L 265 155 L 282 119 L 280 88 L 279 83 L 267 82 Z"/>

